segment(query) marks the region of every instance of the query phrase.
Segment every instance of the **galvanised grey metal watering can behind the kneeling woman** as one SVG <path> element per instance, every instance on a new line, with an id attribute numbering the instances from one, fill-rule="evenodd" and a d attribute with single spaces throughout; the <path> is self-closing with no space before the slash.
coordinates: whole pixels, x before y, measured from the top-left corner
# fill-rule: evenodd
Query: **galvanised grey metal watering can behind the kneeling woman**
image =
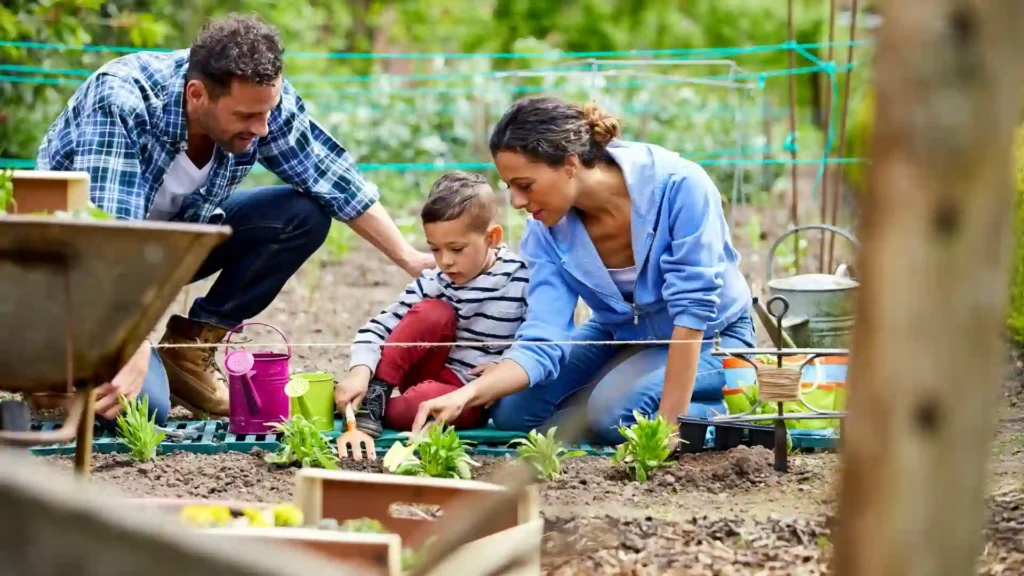
<path id="1" fill-rule="evenodd" d="M 806 224 L 786 232 L 768 251 L 765 299 L 781 295 L 790 303 L 790 312 L 782 321 L 782 330 L 796 347 L 849 347 L 854 321 L 854 293 L 860 283 L 847 275 L 846 265 L 840 265 L 836 274 L 802 274 L 788 278 L 772 278 L 775 250 L 786 237 L 806 230 L 822 230 L 838 234 L 854 246 L 860 247 L 860 243 L 852 234 L 829 224 Z M 762 320 L 765 320 L 767 313 L 762 315 L 760 310 L 758 313 L 762 316 Z M 769 319 L 768 325 L 773 324 L 774 320 Z"/>

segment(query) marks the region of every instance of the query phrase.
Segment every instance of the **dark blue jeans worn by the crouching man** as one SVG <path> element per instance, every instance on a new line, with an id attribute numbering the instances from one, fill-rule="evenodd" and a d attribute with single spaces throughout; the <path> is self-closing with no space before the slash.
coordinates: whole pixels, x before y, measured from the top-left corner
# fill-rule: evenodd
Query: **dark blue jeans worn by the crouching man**
<path id="1" fill-rule="evenodd" d="M 310 196 L 287 186 L 236 192 L 221 208 L 231 236 L 210 252 L 193 282 L 220 276 L 206 296 L 196 298 L 188 318 L 230 330 L 270 305 L 327 240 L 331 217 Z M 150 414 L 163 424 L 170 387 L 156 349 L 139 396 L 150 399 Z"/>

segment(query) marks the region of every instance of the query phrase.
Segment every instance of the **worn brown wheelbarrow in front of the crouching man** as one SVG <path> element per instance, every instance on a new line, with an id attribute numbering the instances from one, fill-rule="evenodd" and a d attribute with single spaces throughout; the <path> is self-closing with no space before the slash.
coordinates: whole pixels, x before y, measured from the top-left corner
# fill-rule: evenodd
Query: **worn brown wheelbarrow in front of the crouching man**
<path id="1" fill-rule="evenodd" d="M 0 216 L 0 390 L 72 396 L 63 425 L 27 429 L 28 408 L 0 410 L 0 444 L 76 439 L 89 468 L 93 386 L 110 381 L 230 229 L 150 221 Z M 23 410 L 25 416 L 15 417 Z M 17 420 L 17 425 L 10 425 Z"/>

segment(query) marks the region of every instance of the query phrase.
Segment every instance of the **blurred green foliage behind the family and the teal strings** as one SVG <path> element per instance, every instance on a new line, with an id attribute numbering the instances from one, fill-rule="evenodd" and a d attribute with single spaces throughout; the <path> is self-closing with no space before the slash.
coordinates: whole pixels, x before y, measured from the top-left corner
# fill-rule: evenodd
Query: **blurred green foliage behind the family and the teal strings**
<path id="1" fill-rule="evenodd" d="M 828 5 L 829 0 L 794 1 L 797 42 L 827 39 Z M 204 22 L 230 11 L 255 11 L 279 27 L 287 46 L 286 76 L 311 114 L 361 164 L 416 165 L 367 169 L 411 238 L 419 236 L 413 217 L 419 201 L 439 174 L 429 165 L 478 165 L 495 177 L 487 167 L 488 130 L 514 99 L 527 94 L 595 99 L 620 116 L 625 137 L 710 162 L 708 170 L 729 200 L 763 197 L 786 168 L 777 162 L 788 158 L 790 56 L 784 49 L 677 56 L 727 58 L 742 68 L 734 72 L 745 73 L 743 82 L 750 85 L 759 73 L 768 73 L 759 89 L 693 83 L 695 78 L 727 78 L 730 68 L 722 63 L 669 66 L 664 55 L 635 55 L 613 59 L 632 60 L 630 68 L 643 74 L 595 76 L 585 72 L 624 65 L 559 55 L 777 46 L 787 39 L 786 3 L 779 0 L 195 0 L 180 5 L 10 0 L 0 4 L 0 38 L 127 49 L 0 46 L 0 116 L 9 117 L 0 121 L 0 156 L 34 158 L 40 137 L 75 87 L 104 61 L 133 49 L 187 47 Z M 843 40 L 842 34 L 837 37 Z M 335 57 L 324 57 L 327 52 Z M 368 57 L 368 52 L 389 54 Z M 526 57 L 472 57 L 480 52 Z M 812 52 L 826 55 L 824 48 Z M 402 55 L 409 53 L 417 56 Z M 845 55 L 843 48 L 835 57 Z M 794 56 L 795 67 L 810 65 L 804 55 Z M 507 74 L 539 69 L 548 72 Z M 822 150 L 815 124 L 820 90 L 814 86 L 824 77 L 796 78 L 799 155 L 814 162 Z M 761 160 L 768 163 L 759 165 Z M 274 180 L 254 171 L 244 186 Z M 517 238 L 521 223 L 521 214 L 506 219 L 510 238 Z M 336 227 L 327 251 L 341 255 L 350 242 L 348 229 Z"/>

